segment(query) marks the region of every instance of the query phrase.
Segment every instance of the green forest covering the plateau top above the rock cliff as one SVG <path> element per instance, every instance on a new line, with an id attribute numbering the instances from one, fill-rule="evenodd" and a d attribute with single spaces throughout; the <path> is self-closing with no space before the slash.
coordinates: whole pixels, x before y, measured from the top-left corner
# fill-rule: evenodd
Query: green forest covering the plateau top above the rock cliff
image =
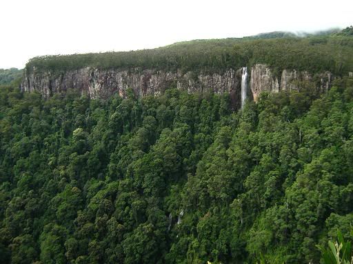
<path id="1" fill-rule="evenodd" d="M 242 39 L 214 39 L 175 43 L 153 50 L 42 56 L 27 64 L 29 72 L 65 72 L 81 67 L 164 69 L 176 71 L 223 71 L 265 63 L 274 71 L 297 69 L 311 73 L 330 71 L 336 76 L 352 72 L 353 38 L 347 28 L 339 33 L 299 38 L 272 32 Z"/>

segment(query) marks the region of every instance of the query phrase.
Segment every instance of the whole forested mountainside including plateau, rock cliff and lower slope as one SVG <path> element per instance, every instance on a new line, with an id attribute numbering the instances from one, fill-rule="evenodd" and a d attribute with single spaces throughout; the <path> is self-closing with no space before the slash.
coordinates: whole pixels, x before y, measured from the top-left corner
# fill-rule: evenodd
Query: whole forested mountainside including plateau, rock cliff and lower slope
<path id="1" fill-rule="evenodd" d="M 33 59 L 0 85 L 0 262 L 320 263 L 353 238 L 351 31 Z"/>

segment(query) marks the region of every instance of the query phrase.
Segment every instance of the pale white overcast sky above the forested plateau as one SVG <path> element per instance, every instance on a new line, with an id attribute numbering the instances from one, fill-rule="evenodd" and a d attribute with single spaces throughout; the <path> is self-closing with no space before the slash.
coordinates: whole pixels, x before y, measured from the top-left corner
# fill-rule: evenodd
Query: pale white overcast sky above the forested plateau
<path id="1" fill-rule="evenodd" d="M 0 68 L 46 54 L 352 25 L 351 0 L 1 0 Z"/>

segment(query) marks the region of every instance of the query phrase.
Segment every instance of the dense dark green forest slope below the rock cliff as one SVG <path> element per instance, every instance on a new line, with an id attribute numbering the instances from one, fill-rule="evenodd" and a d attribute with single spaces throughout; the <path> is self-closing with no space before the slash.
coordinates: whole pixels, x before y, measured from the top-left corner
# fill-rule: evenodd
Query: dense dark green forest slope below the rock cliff
<path id="1" fill-rule="evenodd" d="M 1 87 L 1 263 L 319 263 L 352 240 L 353 78 L 334 85 L 236 113 Z"/>

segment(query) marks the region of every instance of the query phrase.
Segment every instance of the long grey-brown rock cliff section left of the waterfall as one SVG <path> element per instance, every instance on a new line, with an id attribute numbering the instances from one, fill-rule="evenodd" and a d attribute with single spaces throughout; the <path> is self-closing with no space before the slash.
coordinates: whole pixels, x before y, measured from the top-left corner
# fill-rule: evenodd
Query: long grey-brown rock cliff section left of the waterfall
<path id="1" fill-rule="evenodd" d="M 108 98 L 118 93 L 125 96 L 132 88 L 137 96 L 158 96 L 165 89 L 176 87 L 188 93 L 228 92 L 234 99 L 240 96 L 241 72 L 228 69 L 223 74 L 203 72 L 165 72 L 154 69 L 92 69 L 83 68 L 63 73 L 41 72 L 37 69 L 25 73 L 23 91 L 39 91 L 46 98 L 77 89 L 90 98 Z M 240 100 L 240 99 L 239 99 Z"/>

